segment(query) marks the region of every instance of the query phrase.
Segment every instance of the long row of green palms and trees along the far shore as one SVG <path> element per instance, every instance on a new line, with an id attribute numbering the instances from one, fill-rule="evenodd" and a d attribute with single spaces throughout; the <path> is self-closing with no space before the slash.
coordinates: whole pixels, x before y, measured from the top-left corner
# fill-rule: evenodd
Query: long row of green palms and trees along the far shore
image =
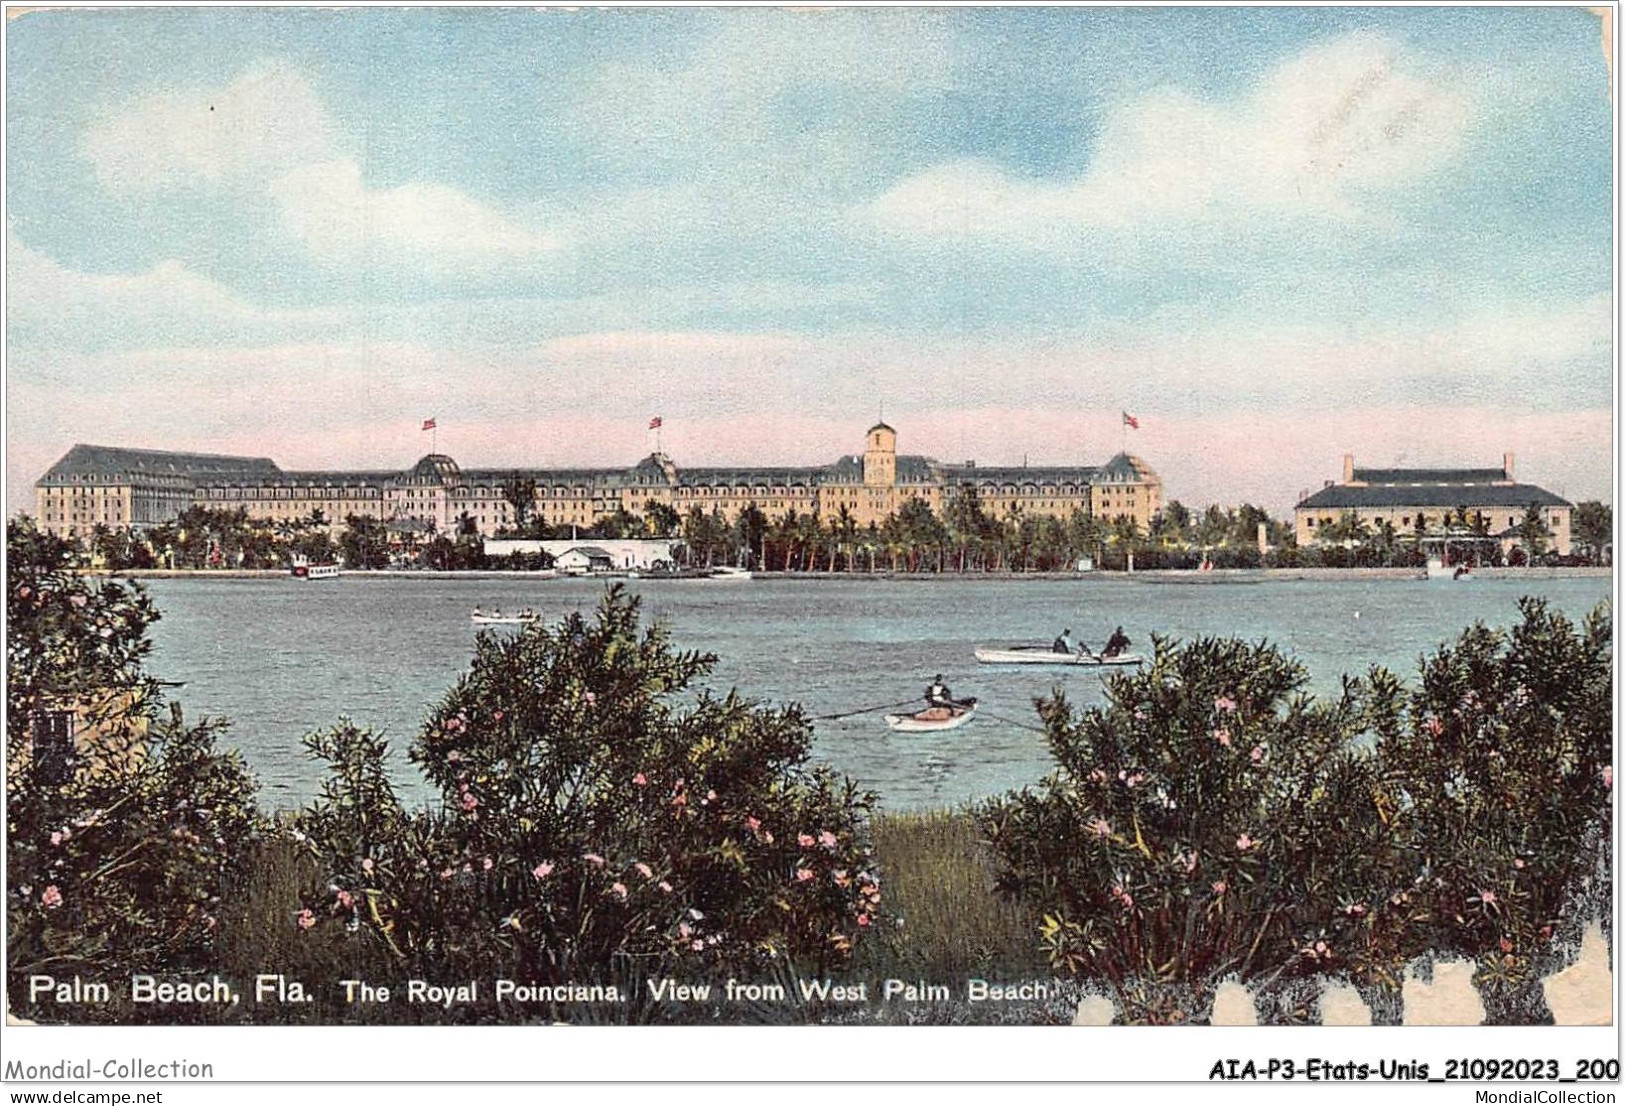
<path id="1" fill-rule="evenodd" d="M 512 489 L 523 492 L 525 489 Z M 533 500 L 531 500 L 533 502 Z M 1263 547 L 1259 531 L 1263 529 Z M 1012 507 L 988 510 L 975 489 L 959 489 L 941 513 L 908 500 L 879 523 L 860 525 L 845 507 L 832 516 L 790 510 L 770 518 L 748 503 L 734 518 L 692 507 L 679 513 L 648 500 L 642 512 L 618 508 L 590 526 L 549 525 L 535 510 L 514 512 L 496 538 L 541 541 L 670 539 L 679 564 L 741 565 L 767 572 L 1068 572 L 1084 564 L 1105 570 L 1144 568 L 1300 568 L 1419 567 L 1424 538 L 1448 533 L 1451 559 L 1485 565 L 1540 564 L 1554 559 L 1554 536 L 1529 505 L 1505 554 L 1482 512 L 1446 512 L 1445 529 L 1409 529 L 1389 521 L 1370 525 L 1346 512 L 1323 525 L 1315 544 L 1300 546 L 1290 520 L 1261 507 L 1211 505 L 1204 510 L 1170 500 L 1142 528 L 1129 516 L 1102 518 L 1084 508 L 1064 518 Z M 1614 508 L 1596 502 L 1575 507 L 1571 560 L 1609 564 Z M 421 567 L 470 570 L 515 567 L 486 554 L 484 538 L 465 512 L 448 533 L 432 521 L 392 526 L 349 515 L 335 529 L 314 510 L 291 520 L 252 518 L 244 508 L 188 507 L 179 518 L 146 531 L 94 526 L 80 539 L 81 554 L 104 568 L 280 568 L 299 562 L 341 562 L 351 568 Z M 520 555 L 518 567 L 544 568 L 544 554 Z"/>

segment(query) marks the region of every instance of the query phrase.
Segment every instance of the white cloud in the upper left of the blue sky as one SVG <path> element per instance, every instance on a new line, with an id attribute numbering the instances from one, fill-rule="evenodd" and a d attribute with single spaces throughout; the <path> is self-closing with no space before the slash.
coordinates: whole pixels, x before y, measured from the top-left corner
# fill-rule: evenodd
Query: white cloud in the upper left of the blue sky
<path id="1" fill-rule="evenodd" d="M 366 260 L 479 273 L 557 250 L 562 237 L 434 182 L 369 187 L 310 81 L 255 67 L 224 89 L 158 93 L 84 136 L 109 192 L 202 185 L 276 205 L 284 229 L 330 265 Z"/>

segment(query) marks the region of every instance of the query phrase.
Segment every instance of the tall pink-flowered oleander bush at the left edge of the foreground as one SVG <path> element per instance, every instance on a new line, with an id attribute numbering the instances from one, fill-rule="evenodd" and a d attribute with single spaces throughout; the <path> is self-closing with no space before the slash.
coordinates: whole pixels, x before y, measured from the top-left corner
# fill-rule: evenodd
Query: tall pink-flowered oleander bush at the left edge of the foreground
<path id="1" fill-rule="evenodd" d="M 254 780 L 146 672 L 158 611 L 6 533 L 6 970 L 128 979 L 208 968 L 255 836 Z M 83 1007 L 96 1017 L 94 1007 Z"/>

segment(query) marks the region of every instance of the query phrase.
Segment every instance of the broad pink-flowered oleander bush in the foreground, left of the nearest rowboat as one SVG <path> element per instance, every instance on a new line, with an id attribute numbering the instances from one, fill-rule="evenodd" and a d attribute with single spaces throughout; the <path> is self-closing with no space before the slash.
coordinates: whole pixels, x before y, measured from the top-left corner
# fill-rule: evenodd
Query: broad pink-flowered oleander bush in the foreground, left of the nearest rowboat
<path id="1" fill-rule="evenodd" d="M 377 736 L 312 734 L 330 775 L 301 832 L 328 888 L 299 924 L 447 979 L 843 963 L 879 918 L 871 799 L 808 765 L 798 708 L 699 687 L 712 663 L 619 590 L 481 635 L 408 754 L 431 812 L 403 809 Z"/>

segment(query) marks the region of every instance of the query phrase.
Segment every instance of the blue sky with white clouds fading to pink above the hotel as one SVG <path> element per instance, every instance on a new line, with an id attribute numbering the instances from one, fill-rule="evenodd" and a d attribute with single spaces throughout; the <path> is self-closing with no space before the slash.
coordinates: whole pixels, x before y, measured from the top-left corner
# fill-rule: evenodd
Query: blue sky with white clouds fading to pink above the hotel
<path id="1" fill-rule="evenodd" d="M 1612 502 L 1581 8 L 104 10 L 6 28 L 8 508 L 75 442 L 408 468 L 1128 448 Z M 1121 413 L 1139 421 L 1126 429 Z"/>

